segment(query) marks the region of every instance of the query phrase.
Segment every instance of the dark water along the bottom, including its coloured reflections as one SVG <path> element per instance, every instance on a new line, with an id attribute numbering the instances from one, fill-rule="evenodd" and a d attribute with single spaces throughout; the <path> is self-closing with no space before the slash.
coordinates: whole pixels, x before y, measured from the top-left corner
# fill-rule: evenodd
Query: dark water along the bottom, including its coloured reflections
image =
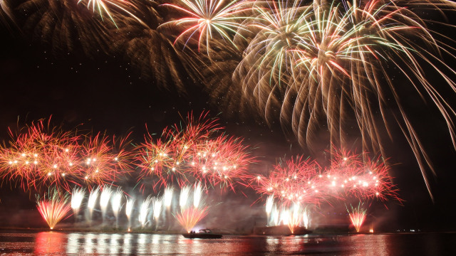
<path id="1" fill-rule="evenodd" d="M 0 255 L 456 255 L 455 233 L 225 235 L 190 240 L 182 235 L 131 233 L 0 233 Z"/>

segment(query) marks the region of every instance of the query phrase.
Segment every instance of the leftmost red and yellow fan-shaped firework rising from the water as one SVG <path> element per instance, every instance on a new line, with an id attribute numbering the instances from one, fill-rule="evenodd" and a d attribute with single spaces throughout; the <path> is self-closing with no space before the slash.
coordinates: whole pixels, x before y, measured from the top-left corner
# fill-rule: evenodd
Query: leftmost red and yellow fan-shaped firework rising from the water
<path id="1" fill-rule="evenodd" d="M 67 204 L 68 194 L 62 194 L 58 190 L 49 191 L 48 195 L 39 198 L 37 196 L 36 203 L 38 211 L 49 228 L 53 229 L 57 223 L 65 217 L 71 206 Z"/>

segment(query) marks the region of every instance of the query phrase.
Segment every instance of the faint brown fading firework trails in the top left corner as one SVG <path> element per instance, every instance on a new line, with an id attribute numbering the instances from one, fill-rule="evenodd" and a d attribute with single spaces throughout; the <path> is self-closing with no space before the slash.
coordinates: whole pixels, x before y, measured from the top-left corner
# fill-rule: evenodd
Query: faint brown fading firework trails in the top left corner
<path id="1" fill-rule="evenodd" d="M 12 1 L 14 9 L 26 14 L 18 17 L 24 35 L 51 46 L 55 55 L 82 50 L 88 56 L 110 52 L 113 38 L 109 31 L 113 23 L 100 23 L 93 11 L 78 4 L 78 0 Z"/>

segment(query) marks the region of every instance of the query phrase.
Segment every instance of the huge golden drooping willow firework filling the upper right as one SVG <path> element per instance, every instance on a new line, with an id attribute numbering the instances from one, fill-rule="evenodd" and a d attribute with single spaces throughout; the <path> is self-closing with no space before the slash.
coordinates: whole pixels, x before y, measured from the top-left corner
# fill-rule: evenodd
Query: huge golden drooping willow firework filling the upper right
<path id="1" fill-rule="evenodd" d="M 279 118 L 284 127 L 291 124 L 301 145 L 318 149 L 321 140 L 315 135 L 321 127 L 328 127 L 332 144 L 344 146 L 352 129 L 345 120 L 356 119 L 363 149 L 385 156 L 382 134 L 390 135 L 391 116 L 413 149 L 429 189 L 424 165 L 430 166 L 430 159 L 408 109 L 401 104 L 403 95 L 395 80 L 406 81 L 417 95 L 435 104 L 455 144 L 455 111 L 428 79 L 428 74 L 435 74 L 448 90 L 456 90 L 451 79 L 455 71 L 441 57 L 454 58 L 453 41 L 428 28 L 432 21 L 421 14 L 422 9 L 455 11 L 454 4 L 400 0 L 314 1 L 309 6 L 292 0 L 265 3 L 266 7 L 255 9 L 258 16 L 252 26 L 258 30 L 235 77 L 268 122 Z M 392 112 L 392 106 L 398 112 Z"/>

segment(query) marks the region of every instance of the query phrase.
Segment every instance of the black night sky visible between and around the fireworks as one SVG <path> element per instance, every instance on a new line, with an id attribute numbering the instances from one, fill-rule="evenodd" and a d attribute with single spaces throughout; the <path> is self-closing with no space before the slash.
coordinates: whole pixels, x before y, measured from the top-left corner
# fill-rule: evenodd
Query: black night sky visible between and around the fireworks
<path id="1" fill-rule="evenodd" d="M 18 123 L 24 125 L 51 117 L 54 124 L 63 124 L 66 129 L 82 124 L 84 129 L 118 136 L 133 132 L 133 142 L 140 143 L 145 124 L 150 131 L 160 133 L 163 128 L 180 122 L 188 112 L 209 111 L 212 117 L 220 118 L 227 134 L 243 137 L 246 144 L 255 148 L 253 152 L 260 162 L 252 169 L 266 169 L 280 157 L 310 154 L 279 126 L 268 127 L 257 118 L 241 118 L 245 114 L 242 110 L 239 118 L 227 117 L 197 82 L 186 81 L 187 93 L 182 94 L 173 87 L 158 88 L 154 80 L 140 77 L 122 54 L 98 53 L 88 57 L 77 49 L 71 53 L 53 53 L 46 43 L 21 35 L 14 26 L 0 25 L 0 38 L 1 141 L 8 141 L 8 127 L 16 129 Z M 453 100 L 450 104 L 456 108 Z M 391 176 L 400 189 L 403 206 L 395 201 L 385 205 L 374 203 L 370 212 L 375 218 L 385 219 L 382 221 L 385 230 L 455 230 L 456 154 L 445 123 L 429 103 L 425 105 L 416 97 L 403 101 L 416 108 L 413 124 L 422 134 L 435 167 L 437 175 L 431 178 L 435 201 L 431 201 L 410 146 L 396 127 L 393 141 L 385 142 L 385 151 L 393 164 Z M 321 152 L 314 157 L 324 162 Z M 35 207 L 33 193 L 11 188 L 8 181 L 2 181 L 0 193 L 0 226 L 9 223 L 6 216 L 20 215 Z M 244 203 L 249 206 L 256 199 L 249 198 Z M 343 203 L 334 206 L 337 212 L 344 207 Z M 324 209 L 331 211 L 328 206 Z"/>

